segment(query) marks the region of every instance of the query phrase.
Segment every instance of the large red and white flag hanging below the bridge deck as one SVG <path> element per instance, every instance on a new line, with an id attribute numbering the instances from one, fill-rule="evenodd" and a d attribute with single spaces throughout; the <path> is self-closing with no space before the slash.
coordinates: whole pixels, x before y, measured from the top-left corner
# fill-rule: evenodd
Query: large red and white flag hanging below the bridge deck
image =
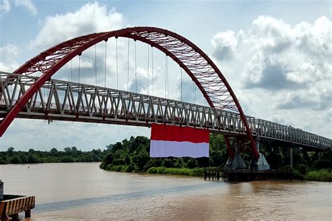
<path id="1" fill-rule="evenodd" d="M 209 130 L 152 124 L 150 157 L 209 157 Z"/>

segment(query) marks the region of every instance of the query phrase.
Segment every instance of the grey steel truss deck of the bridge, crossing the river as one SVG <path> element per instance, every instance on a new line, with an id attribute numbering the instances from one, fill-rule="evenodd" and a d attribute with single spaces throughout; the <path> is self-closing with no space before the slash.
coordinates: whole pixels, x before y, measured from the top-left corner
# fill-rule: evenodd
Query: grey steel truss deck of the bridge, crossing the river
<path id="1" fill-rule="evenodd" d="M 37 79 L 0 71 L 0 117 L 6 116 Z M 55 79 L 48 80 L 34 94 L 18 117 L 143 127 L 166 123 L 205 128 L 229 136 L 246 136 L 240 114 L 233 111 Z M 293 143 L 311 150 L 332 148 L 330 138 L 301 129 L 250 116 L 247 116 L 247 122 L 252 134 L 259 138 L 282 141 L 285 145 Z"/>

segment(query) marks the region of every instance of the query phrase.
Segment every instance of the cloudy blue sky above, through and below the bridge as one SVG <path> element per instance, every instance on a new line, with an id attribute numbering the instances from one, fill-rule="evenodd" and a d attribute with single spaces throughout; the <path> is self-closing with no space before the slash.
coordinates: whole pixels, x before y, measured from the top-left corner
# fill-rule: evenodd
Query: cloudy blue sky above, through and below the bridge
<path id="1" fill-rule="evenodd" d="M 0 0 L 0 70 L 15 71 L 43 50 L 76 36 L 124 27 L 160 27 L 188 38 L 212 58 L 246 115 L 332 138 L 331 13 L 331 1 Z M 134 43 L 119 38 L 117 44 L 118 73 L 122 74 L 118 88 L 165 97 L 165 55 L 153 50 L 152 67 L 152 49 L 137 44 L 136 88 Z M 107 48 L 99 43 L 83 53 L 83 83 L 95 83 L 97 69 L 97 85 L 104 85 L 106 61 L 106 85 L 116 88 L 115 48 L 113 39 Z M 72 64 L 77 80 L 77 57 Z M 69 65 L 53 78 L 71 80 Z M 179 66 L 170 60 L 168 69 L 166 91 L 170 93 L 166 96 L 180 99 Z M 153 77 L 148 78 L 148 72 Z M 183 84 L 184 101 L 206 105 L 187 76 Z M 139 135 L 150 136 L 150 129 L 15 119 L 0 138 L 0 150 L 10 146 L 16 150 L 104 149 Z"/>

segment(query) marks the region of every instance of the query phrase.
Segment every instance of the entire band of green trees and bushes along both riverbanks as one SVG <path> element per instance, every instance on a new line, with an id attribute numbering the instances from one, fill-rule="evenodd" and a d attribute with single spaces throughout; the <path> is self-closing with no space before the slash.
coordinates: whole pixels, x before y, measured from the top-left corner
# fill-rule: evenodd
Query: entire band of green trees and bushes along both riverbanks
<path id="1" fill-rule="evenodd" d="M 234 142 L 234 141 L 231 141 Z M 122 142 L 106 146 L 106 150 L 83 152 L 76 147 L 67 147 L 63 151 L 52 148 L 50 151 L 15 151 L 10 147 L 0 152 L 0 164 L 34 164 L 54 162 L 102 162 L 100 168 L 108 171 L 144 172 L 158 174 L 174 174 L 201 176 L 204 167 L 223 167 L 228 159 L 226 143 L 221 135 L 210 136 L 209 158 L 191 157 L 149 157 L 150 140 L 145 136 L 130 137 Z M 235 146 L 235 143 L 231 143 Z M 247 141 L 237 143 L 241 155 L 247 165 L 251 162 L 251 149 Z M 273 143 L 261 142 L 271 169 L 289 167 L 287 148 L 274 146 Z M 293 171 L 297 179 L 319 180 L 331 182 L 332 152 L 321 155 L 293 148 Z"/>

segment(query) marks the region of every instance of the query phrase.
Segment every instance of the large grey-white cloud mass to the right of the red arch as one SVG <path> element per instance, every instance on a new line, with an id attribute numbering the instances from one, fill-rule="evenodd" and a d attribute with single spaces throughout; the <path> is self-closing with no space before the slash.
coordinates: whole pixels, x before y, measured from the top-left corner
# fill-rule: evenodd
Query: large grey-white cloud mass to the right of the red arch
<path id="1" fill-rule="evenodd" d="M 212 45 L 247 114 L 268 120 L 278 115 L 279 122 L 331 137 L 324 117 L 332 107 L 332 22 L 327 17 L 291 26 L 259 16 L 247 31 L 216 34 Z"/>

